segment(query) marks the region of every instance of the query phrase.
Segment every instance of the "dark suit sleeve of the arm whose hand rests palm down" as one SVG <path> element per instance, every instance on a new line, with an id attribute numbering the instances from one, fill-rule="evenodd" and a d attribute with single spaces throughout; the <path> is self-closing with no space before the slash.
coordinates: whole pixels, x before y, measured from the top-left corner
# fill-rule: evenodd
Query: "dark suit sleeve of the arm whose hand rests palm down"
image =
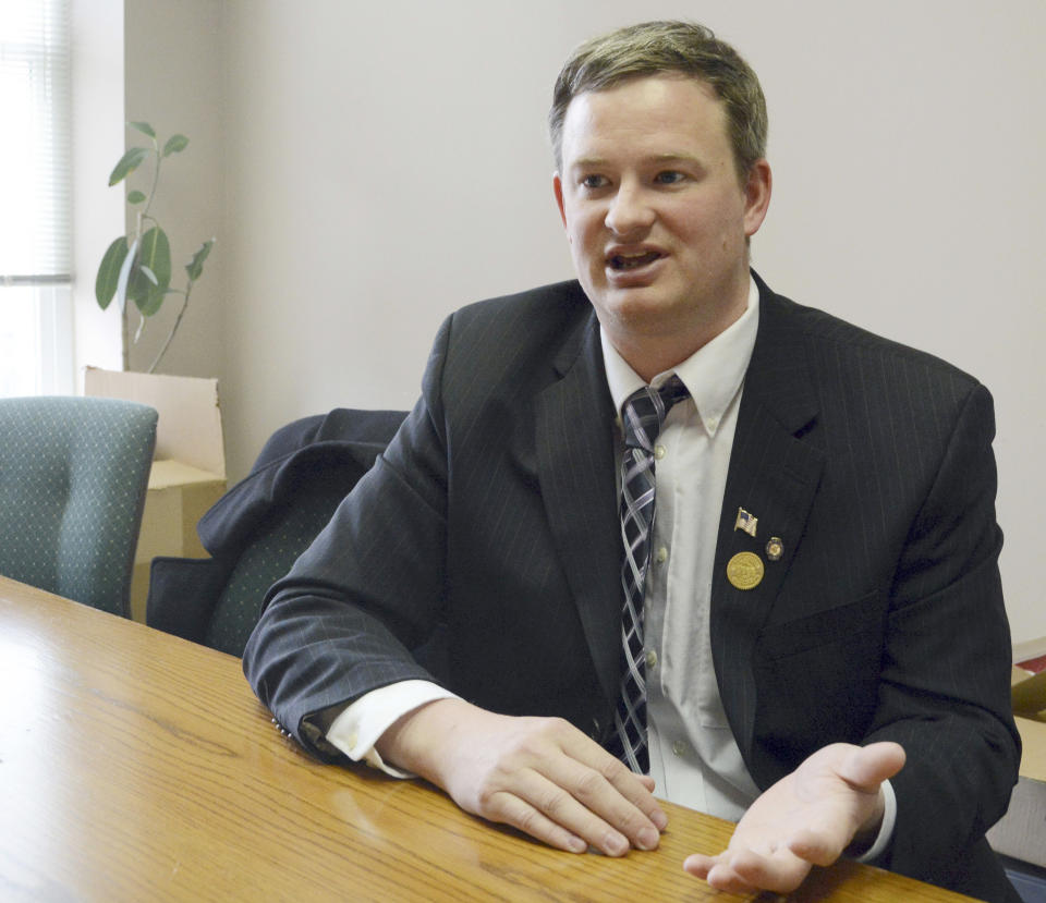
<path id="1" fill-rule="evenodd" d="M 438 633 L 443 605 L 448 471 L 439 385 L 452 319 L 437 335 L 422 398 L 269 589 L 244 650 L 258 698 L 324 759 L 338 757 L 323 740 L 325 712 L 397 681 L 440 682 L 413 652 Z"/>

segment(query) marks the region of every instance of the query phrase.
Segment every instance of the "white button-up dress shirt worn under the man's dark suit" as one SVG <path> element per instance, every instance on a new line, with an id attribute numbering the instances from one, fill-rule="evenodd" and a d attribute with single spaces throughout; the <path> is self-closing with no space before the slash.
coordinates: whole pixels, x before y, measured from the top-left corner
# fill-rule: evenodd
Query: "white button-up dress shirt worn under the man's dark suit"
<path id="1" fill-rule="evenodd" d="M 722 709 L 708 619 L 727 471 L 757 330 L 758 289 L 751 280 L 744 314 L 650 382 L 659 387 L 676 374 L 690 392 L 669 411 L 655 446 L 656 514 L 644 595 L 650 776 L 658 796 L 730 821 L 740 820 L 759 790 Z M 644 381 L 601 330 L 600 339 L 607 383 L 620 412 Z M 619 462 L 623 449 L 622 438 Z M 385 764 L 374 744 L 402 715 L 453 696 L 426 681 L 381 687 L 345 708 L 327 740 L 351 759 L 410 777 Z M 863 861 L 879 855 L 892 834 L 897 806 L 888 781 L 884 791 L 883 828 Z"/>

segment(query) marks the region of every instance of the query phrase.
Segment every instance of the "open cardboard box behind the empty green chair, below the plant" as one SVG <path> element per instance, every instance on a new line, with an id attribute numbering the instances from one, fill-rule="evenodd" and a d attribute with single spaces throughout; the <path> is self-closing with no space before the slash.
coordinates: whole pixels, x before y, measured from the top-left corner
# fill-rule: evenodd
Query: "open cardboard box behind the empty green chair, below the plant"
<path id="1" fill-rule="evenodd" d="M 153 559 L 207 557 L 196 524 L 226 491 L 218 380 L 88 367 L 84 393 L 141 402 L 160 415 L 131 579 L 131 617 L 145 621 Z"/>

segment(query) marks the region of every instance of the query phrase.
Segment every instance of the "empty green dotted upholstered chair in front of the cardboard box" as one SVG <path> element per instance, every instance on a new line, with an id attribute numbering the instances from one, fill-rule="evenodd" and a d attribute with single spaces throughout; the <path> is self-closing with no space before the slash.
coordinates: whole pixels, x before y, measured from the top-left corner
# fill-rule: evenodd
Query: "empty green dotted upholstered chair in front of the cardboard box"
<path id="1" fill-rule="evenodd" d="M 157 413 L 0 399 L 0 574 L 126 617 Z"/>

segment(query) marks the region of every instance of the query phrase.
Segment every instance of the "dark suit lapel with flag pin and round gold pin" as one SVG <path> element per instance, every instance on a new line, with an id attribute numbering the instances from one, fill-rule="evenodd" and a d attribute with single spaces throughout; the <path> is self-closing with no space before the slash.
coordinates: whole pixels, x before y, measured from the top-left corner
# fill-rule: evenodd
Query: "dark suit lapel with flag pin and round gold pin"
<path id="1" fill-rule="evenodd" d="M 796 438 L 817 415 L 802 332 L 787 303 L 758 284 L 759 329 L 723 493 L 710 615 L 720 696 L 747 761 L 755 722 L 755 642 L 803 536 L 824 465 L 820 452 Z M 755 537 L 735 529 L 742 508 L 758 518 Z M 780 539 L 778 560 L 767 553 L 771 537 Z M 765 569 L 751 589 L 738 588 L 728 578 L 728 564 L 740 552 L 758 556 Z"/>

